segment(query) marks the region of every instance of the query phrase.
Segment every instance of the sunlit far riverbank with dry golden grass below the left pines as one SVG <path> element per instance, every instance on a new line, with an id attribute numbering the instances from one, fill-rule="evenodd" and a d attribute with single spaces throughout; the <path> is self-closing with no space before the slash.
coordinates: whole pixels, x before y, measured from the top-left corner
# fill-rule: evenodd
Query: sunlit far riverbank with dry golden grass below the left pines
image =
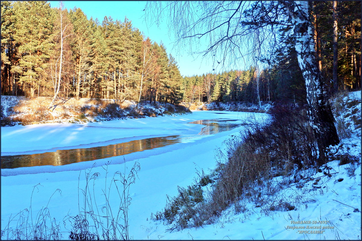
<path id="1" fill-rule="evenodd" d="M 184 106 L 158 102 L 140 102 L 137 105 L 129 100 L 121 102 L 114 99 L 59 98 L 49 108 L 50 102 L 49 97 L 30 99 L 1 96 L 1 126 L 49 122 L 82 123 L 190 113 Z"/>

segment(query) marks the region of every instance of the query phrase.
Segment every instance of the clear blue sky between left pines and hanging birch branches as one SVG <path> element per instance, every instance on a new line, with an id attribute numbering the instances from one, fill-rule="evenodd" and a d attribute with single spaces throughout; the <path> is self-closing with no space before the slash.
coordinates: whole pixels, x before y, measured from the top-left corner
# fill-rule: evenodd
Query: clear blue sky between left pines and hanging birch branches
<path id="1" fill-rule="evenodd" d="M 51 7 L 58 7 L 59 1 L 49 1 Z M 74 7 L 80 8 L 87 15 L 88 19 L 98 18 L 103 21 L 104 16 L 111 16 L 114 20 L 123 21 L 125 16 L 132 21 L 132 26 L 138 28 L 152 41 L 160 43 L 161 41 L 166 47 L 167 53 L 171 53 L 176 59 L 178 68 L 182 76 L 192 76 L 195 74 L 215 73 L 212 71 L 212 61 L 192 55 L 185 49 L 174 47 L 175 41 L 172 33 L 168 34 L 169 28 L 165 21 L 159 27 L 155 23 L 146 22 L 143 9 L 146 1 L 63 1 L 63 5 L 67 9 Z M 217 71 L 217 69 L 216 69 Z"/>

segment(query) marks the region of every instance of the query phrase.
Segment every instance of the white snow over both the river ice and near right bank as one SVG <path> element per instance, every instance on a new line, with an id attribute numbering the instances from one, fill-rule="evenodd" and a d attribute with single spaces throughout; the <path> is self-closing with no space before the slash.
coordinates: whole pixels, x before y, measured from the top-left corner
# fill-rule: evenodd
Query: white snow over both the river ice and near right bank
<path id="1" fill-rule="evenodd" d="M 350 98 L 361 96 L 361 91 L 351 94 Z M 357 98 L 357 97 L 356 97 Z M 359 106 L 359 110 L 361 107 Z M 219 115 L 216 113 L 223 113 Z M 123 142 L 131 138 L 146 138 L 152 136 L 166 136 L 174 134 L 196 134 L 202 125 L 188 124 L 190 121 L 202 119 L 230 118 L 246 119 L 248 115 L 264 118 L 264 113 L 240 113 L 228 111 L 194 111 L 185 116 L 160 116 L 156 118 L 115 120 L 108 122 L 95 122 L 85 124 L 42 124 L 29 126 L 13 126 L 1 128 L 1 154 L 15 155 L 28 151 L 40 153 L 45 150 L 54 150 L 58 147 L 71 149 L 74 146 L 99 146 L 104 143 Z M 231 135 L 237 134 L 243 126 L 236 129 L 206 135 L 190 143 L 177 143 L 158 149 L 146 150 L 124 156 L 126 163 L 108 166 L 108 180 L 102 167 L 94 167 L 91 173 L 99 172 L 100 176 L 95 181 L 94 190 L 97 206 L 105 205 L 105 197 L 101 195 L 105 182 L 110 182 L 110 177 L 116 171 L 128 170 L 135 161 L 140 164 L 140 171 L 135 184 L 130 186 L 131 205 L 129 206 L 129 233 L 135 240 L 335 240 L 335 239 L 360 239 L 361 238 L 361 212 L 354 212 L 361 206 L 361 165 L 338 165 L 338 161 L 328 163 L 332 177 L 324 176 L 323 172 L 315 169 L 307 170 L 311 178 L 320 177 L 318 186 L 313 188 L 313 181 L 306 182 L 304 188 L 287 188 L 285 197 L 296 195 L 302 191 L 307 193 L 309 201 L 303 203 L 297 210 L 275 211 L 268 215 L 261 214 L 260 207 L 253 203 L 248 204 L 249 211 L 235 213 L 233 207 L 223 212 L 215 224 L 205 225 L 202 228 L 188 228 L 182 231 L 166 232 L 169 227 L 160 221 L 151 221 L 151 213 L 164 208 L 166 195 L 177 195 L 177 186 L 190 185 L 196 176 L 196 170 L 207 172 L 208 168 L 215 166 L 215 149 L 224 150 L 223 141 Z M 356 138 L 356 136 L 351 137 Z M 351 138 L 342 140 L 351 141 Z M 353 140 L 352 140 L 353 141 Z M 361 155 L 361 142 L 353 141 L 357 146 L 351 146 L 355 154 Z M 106 163 L 109 160 L 119 162 L 123 156 L 98 160 Z M 93 162 L 93 161 L 92 161 Z M 88 162 L 88 163 L 92 163 Z M 88 164 L 87 164 L 88 165 Z M 67 231 L 62 222 L 66 215 L 78 214 L 78 178 L 80 188 L 84 187 L 84 173 L 79 171 L 87 168 L 85 163 L 66 165 L 69 168 L 58 166 L 58 171 L 53 172 L 50 167 L 43 167 L 34 174 L 29 174 L 34 168 L 22 169 L 22 175 L 3 176 L 1 172 L 1 227 L 7 225 L 10 215 L 17 214 L 24 208 L 31 208 L 35 217 L 38 210 L 47 206 L 52 217 L 61 225 L 61 231 Z M 47 171 L 51 172 L 47 172 Z M 41 172 L 42 171 L 42 172 Z M 29 172 L 28 174 L 25 174 Z M 19 174 L 19 173 L 18 173 Z M 281 177 L 275 177 L 279 181 Z M 343 178 L 342 181 L 340 178 Z M 35 188 L 31 195 L 33 186 Z M 93 185 L 93 184 L 92 184 Z M 61 190 L 61 193 L 56 191 Z M 322 190 L 322 191 L 321 191 Z M 53 193 L 55 194 L 51 196 Z M 110 192 L 110 199 L 116 200 L 118 193 Z M 51 197 L 51 199 L 50 199 Z M 49 201 L 50 199 L 50 201 Z M 315 200 L 315 201 L 312 201 Z M 49 205 L 47 203 L 49 202 Z M 117 211 L 117 203 L 112 204 Z M 346 206 L 349 205 L 349 206 Z M 360 211 L 360 210 L 359 210 Z M 328 224 L 292 224 L 291 221 L 329 221 Z M 10 225 L 14 227 L 16 221 Z M 287 226 L 321 226 L 318 229 L 304 228 L 293 229 Z M 323 227 L 329 227 L 324 228 Z M 331 227 L 334 227 L 331 229 Z M 299 233 L 299 231 L 322 230 L 322 234 Z M 68 239 L 68 234 L 63 234 L 63 239 Z"/>

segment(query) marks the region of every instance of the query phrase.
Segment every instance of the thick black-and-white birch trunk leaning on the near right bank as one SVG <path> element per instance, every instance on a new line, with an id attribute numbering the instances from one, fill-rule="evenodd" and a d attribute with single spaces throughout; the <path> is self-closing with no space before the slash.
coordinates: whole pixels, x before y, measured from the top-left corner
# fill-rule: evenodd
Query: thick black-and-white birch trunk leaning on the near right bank
<path id="1" fill-rule="evenodd" d="M 339 143 L 331 106 L 325 96 L 324 82 L 315 57 L 313 26 L 308 1 L 287 5 L 294 23 L 295 50 L 307 89 L 308 116 L 319 149 L 319 161 L 324 160 L 325 149 Z"/>

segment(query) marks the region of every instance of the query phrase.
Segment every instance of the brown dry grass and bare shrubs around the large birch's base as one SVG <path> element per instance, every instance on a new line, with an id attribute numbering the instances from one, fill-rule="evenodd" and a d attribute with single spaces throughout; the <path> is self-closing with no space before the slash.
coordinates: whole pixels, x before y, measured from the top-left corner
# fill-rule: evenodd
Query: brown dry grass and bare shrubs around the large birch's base
<path id="1" fill-rule="evenodd" d="M 331 147 L 323 161 L 313 152 L 316 141 L 306 110 L 276 106 L 269 123 L 249 120 L 252 125 L 228 140 L 226 154 L 219 152 L 216 168 L 209 174 L 202 170 L 194 183 L 178 187 L 178 195 L 167 197 L 152 220 L 165 221 L 172 232 L 215 223 L 225 210 L 248 219 L 253 208 L 266 216 L 307 208 L 328 191 L 326 183 L 343 180 L 331 167 L 334 161 L 348 164 L 349 176 L 360 164 L 361 153 L 353 151 L 361 136 L 361 100 L 350 98 L 341 96 L 335 103 L 335 116 L 342 116 L 337 125 L 347 128 L 337 128 L 341 144 Z"/>

